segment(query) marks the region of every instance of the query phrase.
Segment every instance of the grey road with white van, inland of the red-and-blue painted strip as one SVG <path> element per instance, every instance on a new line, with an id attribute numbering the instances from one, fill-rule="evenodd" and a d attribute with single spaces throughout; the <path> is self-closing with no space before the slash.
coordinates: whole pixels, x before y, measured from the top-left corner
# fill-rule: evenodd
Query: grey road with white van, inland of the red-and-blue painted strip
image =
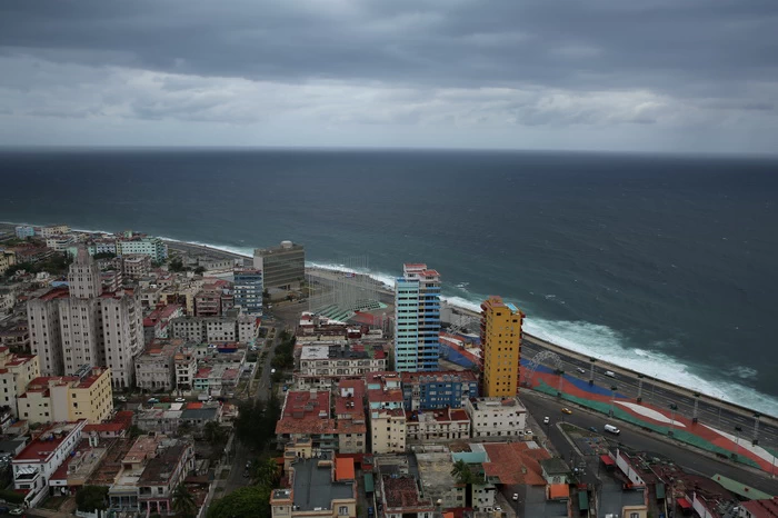
<path id="1" fill-rule="evenodd" d="M 535 416 L 538 421 L 540 421 L 543 416 L 550 418 L 550 425 L 548 427 L 543 426 L 543 431 L 547 432 L 549 440 L 568 464 L 570 464 L 570 459 L 572 458 L 571 467 L 579 466 L 579 461 L 586 461 L 588 467 L 585 480 L 591 482 L 591 477 L 596 476 L 597 469 L 599 468 L 597 458 L 589 456 L 588 458 L 581 459 L 578 452 L 573 450 L 562 436 L 557 424 L 559 421 L 565 421 L 585 429 L 596 427 L 598 430 L 602 430 L 604 425 L 608 422 L 608 418 L 601 414 L 590 412 L 579 407 L 570 407 L 572 409 L 572 415 L 565 415 L 561 412 L 561 407 L 565 405 L 569 406 L 569 404 L 562 404 L 552 397 L 540 395 L 531 390 L 522 390 L 520 397 L 527 410 Z M 716 474 L 724 475 L 725 477 L 739 480 L 742 484 L 769 494 L 775 494 L 776 487 L 778 487 L 776 479 L 771 478 L 769 475 L 759 475 L 755 470 L 742 469 L 731 462 L 701 455 L 689 449 L 685 444 L 668 440 L 666 437 L 652 437 L 651 432 L 644 431 L 630 425 L 619 424 L 619 428 L 621 429 L 621 435 L 619 435 L 618 441 L 625 447 L 636 451 L 659 454 L 672 459 L 677 465 L 684 467 L 689 472 L 702 475 L 705 477 L 711 477 Z"/>

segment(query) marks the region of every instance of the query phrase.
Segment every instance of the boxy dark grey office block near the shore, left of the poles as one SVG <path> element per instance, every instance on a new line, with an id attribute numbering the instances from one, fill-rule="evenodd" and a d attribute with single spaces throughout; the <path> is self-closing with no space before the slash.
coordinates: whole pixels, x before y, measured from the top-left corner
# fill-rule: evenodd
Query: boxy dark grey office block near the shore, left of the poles
<path id="1" fill-rule="evenodd" d="M 281 241 L 273 248 L 257 248 L 253 267 L 262 271 L 265 288 L 298 289 L 306 278 L 306 249 L 291 241 Z"/>

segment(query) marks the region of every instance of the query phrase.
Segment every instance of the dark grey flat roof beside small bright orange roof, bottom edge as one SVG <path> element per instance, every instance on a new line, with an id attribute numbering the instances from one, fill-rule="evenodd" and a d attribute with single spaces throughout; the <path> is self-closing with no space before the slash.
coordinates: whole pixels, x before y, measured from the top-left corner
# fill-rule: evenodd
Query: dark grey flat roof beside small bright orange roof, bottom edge
<path id="1" fill-rule="evenodd" d="M 300 506 L 302 511 L 331 509 L 332 500 L 355 497 L 353 484 L 332 481 L 331 461 L 321 460 L 305 459 L 292 462 L 295 505 Z"/>

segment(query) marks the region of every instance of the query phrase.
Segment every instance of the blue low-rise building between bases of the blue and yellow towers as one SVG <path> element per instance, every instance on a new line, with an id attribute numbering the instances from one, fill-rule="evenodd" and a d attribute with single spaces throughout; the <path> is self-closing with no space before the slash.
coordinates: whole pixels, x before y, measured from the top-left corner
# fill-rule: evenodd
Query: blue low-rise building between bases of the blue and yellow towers
<path id="1" fill-rule="evenodd" d="M 465 400 L 478 397 L 478 378 L 471 370 L 402 372 L 406 410 L 462 408 Z"/>

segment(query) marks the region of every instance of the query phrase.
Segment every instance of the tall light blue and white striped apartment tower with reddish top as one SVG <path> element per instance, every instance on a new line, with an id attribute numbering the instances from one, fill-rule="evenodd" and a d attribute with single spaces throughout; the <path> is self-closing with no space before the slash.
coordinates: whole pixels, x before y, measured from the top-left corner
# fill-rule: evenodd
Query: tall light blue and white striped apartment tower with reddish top
<path id="1" fill-rule="evenodd" d="M 440 273 L 422 263 L 402 266 L 395 281 L 395 368 L 438 370 Z"/>

